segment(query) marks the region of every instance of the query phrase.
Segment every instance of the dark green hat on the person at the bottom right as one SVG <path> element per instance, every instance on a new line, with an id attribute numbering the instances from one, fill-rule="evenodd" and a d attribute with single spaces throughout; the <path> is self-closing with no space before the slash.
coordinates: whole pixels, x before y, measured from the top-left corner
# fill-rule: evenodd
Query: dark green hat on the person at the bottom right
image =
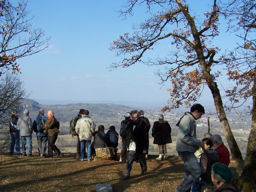
<path id="1" fill-rule="evenodd" d="M 233 178 L 230 168 L 223 163 L 213 164 L 211 174 L 215 179 L 225 183 L 230 183 Z"/>

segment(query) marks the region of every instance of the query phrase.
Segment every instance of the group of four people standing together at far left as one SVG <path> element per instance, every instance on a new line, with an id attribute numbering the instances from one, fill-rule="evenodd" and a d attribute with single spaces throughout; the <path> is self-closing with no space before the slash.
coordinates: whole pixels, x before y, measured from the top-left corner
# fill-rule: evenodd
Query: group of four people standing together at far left
<path id="1" fill-rule="evenodd" d="M 38 123 L 42 119 L 43 127 L 38 130 Z M 41 157 L 53 157 L 55 152 L 56 157 L 60 156 L 60 150 L 55 145 L 58 137 L 59 125 L 54 117 L 54 112 L 49 110 L 47 116 L 44 116 L 44 110 L 40 109 L 38 116 L 34 119 L 34 122 L 29 117 L 29 110 L 25 109 L 23 115 L 18 118 L 18 112 L 12 111 L 11 119 L 9 123 L 11 144 L 10 154 L 14 154 L 14 146 L 16 145 L 16 155 L 22 155 L 23 157 L 32 157 L 32 133 L 36 132 L 38 152 Z M 22 153 L 20 153 L 20 137 L 22 140 Z M 48 142 L 48 155 L 46 155 L 46 144 Z M 26 144 L 28 147 L 28 154 L 26 154 Z"/>

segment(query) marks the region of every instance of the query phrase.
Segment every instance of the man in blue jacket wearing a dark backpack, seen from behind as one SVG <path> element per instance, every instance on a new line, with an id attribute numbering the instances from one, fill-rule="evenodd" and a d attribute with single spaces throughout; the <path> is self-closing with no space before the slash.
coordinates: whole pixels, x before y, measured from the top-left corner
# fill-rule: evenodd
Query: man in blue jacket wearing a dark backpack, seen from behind
<path id="1" fill-rule="evenodd" d="M 44 116 L 45 111 L 43 109 L 39 110 L 38 116 L 34 119 L 33 128 L 36 132 L 38 152 L 40 157 L 45 157 L 46 154 L 46 144 L 47 144 L 47 134 L 44 133 L 45 121 L 47 116 Z"/>

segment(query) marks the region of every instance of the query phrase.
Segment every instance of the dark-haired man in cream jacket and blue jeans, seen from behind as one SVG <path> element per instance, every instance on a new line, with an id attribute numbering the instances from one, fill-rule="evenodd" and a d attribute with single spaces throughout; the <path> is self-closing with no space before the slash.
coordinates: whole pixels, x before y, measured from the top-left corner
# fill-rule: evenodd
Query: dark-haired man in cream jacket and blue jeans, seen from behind
<path id="1" fill-rule="evenodd" d="M 92 154 L 91 154 L 91 140 L 92 134 L 95 131 L 95 125 L 92 118 L 89 116 L 89 111 L 84 110 L 83 116 L 77 120 L 76 124 L 76 133 L 79 136 L 79 140 L 81 142 L 81 156 L 80 161 L 84 161 L 84 147 L 85 144 L 87 145 L 87 158 L 88 161 L 91 161 Z"/>

